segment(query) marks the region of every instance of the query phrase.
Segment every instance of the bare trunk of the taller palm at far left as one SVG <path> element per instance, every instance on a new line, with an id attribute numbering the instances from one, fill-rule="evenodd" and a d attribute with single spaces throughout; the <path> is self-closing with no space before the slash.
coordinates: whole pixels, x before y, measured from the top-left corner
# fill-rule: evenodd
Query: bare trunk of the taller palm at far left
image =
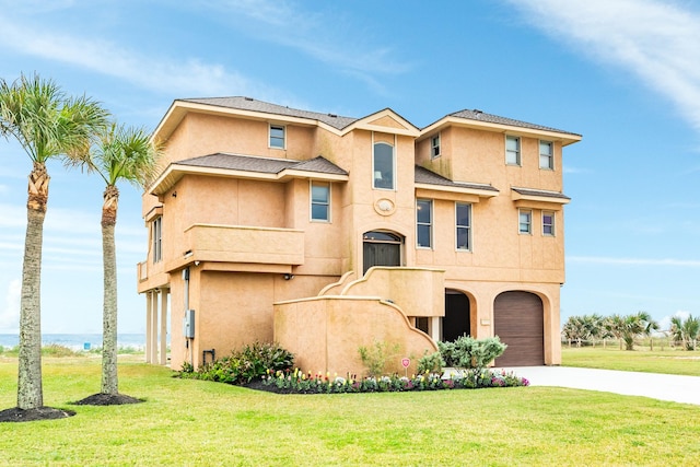
<path id="1" fill-rule="evenodd" d="M 22 267 L 20 305 L 20 354 L 18 408 L 28 410 L 44 406 L 42 388 L 42 244 L 48 201 L 48 182 L 44 163 L 34 163 L 30 174 L 26 203 L 26 237 Z"/>

